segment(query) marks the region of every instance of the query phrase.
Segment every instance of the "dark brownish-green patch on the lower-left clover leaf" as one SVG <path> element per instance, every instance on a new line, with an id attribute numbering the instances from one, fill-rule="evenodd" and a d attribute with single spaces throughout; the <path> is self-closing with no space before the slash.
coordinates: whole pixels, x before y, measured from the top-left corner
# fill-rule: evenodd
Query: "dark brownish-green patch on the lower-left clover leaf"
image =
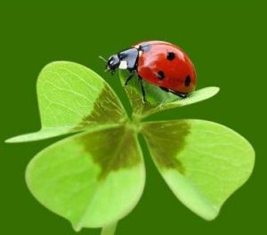
<path id="1" fill-rule="evenodd" d="M 92 141 L 93 140 L 93 141 Z M 93 161 L 101 166 L 99 180 L 104 180 L 112 171 L 131 168 L 140 162 L 136 154 L 138 142 L 134 130 L 119 126 L 77 137 Z"/>

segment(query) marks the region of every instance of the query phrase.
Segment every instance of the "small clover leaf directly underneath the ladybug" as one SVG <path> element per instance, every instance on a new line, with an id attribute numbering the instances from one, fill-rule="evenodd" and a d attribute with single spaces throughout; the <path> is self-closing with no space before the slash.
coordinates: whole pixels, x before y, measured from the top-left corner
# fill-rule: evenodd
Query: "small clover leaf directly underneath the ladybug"
<path id="1" fill-rule="evenodd" d="M 128 75 L 128 72 L 120 71 L 119 76 L 123 85 Z M 206 87 L 190 93 L 187 98 L 182 99 L 173 93 L 162 91 L 157 85 L 150 85 L 145 80 L 143 80 L 143 86 L 146 91 L 146 104 L 142 103 L 142 92 L 138 77 L 133 77 L 128 85 L 125 86 L 125 91 L 133 107 L 133 116 L 138 119 L 145 118 L 164 109 L 172 109 L 204 101 L 214 96 L 220 90 L 215 86 Z"/>

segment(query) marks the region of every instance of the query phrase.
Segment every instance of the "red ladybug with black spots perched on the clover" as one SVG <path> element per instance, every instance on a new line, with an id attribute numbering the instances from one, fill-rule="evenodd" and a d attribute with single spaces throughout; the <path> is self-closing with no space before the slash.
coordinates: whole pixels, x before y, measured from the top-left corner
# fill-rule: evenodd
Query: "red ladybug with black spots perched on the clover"
<path id="1" fill-rule="evenodd" d="M 196 71 L 188 55 L 177 45 L 163 41 L 142 42 L 113 54 L 106 67 L 112 75 L 116 69 L 127 69 L 130 74 L 125 85 L 137 74 L 144 103 L 146 98 L 142 80 L 182 98 L 186 98 L 196 87 Z"/>

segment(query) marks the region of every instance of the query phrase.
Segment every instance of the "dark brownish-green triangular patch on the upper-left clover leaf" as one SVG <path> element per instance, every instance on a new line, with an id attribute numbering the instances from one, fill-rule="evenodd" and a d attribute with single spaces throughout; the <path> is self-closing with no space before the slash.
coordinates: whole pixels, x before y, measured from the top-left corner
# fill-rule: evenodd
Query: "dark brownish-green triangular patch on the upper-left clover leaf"
<path id="1" fill-rule="evenodd" d="M 87 126 L 100 124 L 117 124 L 125 121 L 125 110 L 114 96 L 108 85 L 105 85 L 98 99 L 94 102 L 93 111 L 83 118 L 82 122 L 75 127 L 83 130 Z"/>

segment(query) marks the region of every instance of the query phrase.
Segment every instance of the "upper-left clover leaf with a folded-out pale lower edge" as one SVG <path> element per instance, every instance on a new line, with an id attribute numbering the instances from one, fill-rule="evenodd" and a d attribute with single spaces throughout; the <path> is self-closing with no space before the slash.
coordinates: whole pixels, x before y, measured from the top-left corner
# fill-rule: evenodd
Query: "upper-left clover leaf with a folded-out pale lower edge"
<path id="1" fill-rule="evenodd" d="M 42 129 L 6 142 L 28 142 L 125 121 L 125 110 L 109 85 L 83 65 L 57 61 L 37 80 Z"/>

